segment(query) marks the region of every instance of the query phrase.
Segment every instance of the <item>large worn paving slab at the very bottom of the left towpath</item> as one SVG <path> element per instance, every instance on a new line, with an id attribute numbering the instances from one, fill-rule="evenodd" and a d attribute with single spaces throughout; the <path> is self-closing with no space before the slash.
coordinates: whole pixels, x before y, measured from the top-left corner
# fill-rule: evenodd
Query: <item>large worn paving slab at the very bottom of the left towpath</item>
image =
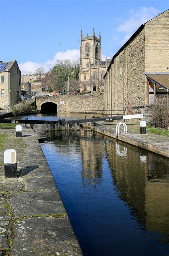
<path id="1" fill-rule="evenodd" d="M 22 218 L 13 228 L 11 255 L 82 255 L 68 217 Z"/>

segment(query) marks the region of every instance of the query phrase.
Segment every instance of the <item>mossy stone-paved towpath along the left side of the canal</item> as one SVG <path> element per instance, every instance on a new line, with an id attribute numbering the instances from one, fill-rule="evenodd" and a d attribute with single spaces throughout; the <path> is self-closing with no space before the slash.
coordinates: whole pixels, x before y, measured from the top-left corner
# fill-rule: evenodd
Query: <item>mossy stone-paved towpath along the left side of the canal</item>
<path id="1" fill-rule="evenodd" d="M 50 168 L 32 129 L 8 134 L 0 154 L 0 255 L 82 255 Z M 17 151 L 17 179 L 4 178 L 3 152 Z"/>

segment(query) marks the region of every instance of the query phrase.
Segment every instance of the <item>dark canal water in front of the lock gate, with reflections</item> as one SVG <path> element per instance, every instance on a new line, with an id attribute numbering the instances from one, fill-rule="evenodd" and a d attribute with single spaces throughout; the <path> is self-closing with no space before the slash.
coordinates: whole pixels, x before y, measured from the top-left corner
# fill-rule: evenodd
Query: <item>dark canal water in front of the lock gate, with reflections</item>
<path id="1" fill-rule="evenodd" d="M 85 256 L 169 255 L 169 160 L 92 134 L 40 139 Z"/>

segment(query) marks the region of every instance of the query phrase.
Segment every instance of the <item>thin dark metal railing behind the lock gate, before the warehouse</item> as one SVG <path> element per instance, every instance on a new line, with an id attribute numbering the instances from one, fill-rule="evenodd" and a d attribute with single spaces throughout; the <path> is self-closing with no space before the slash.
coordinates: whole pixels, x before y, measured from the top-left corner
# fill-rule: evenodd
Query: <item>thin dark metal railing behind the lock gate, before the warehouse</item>
<path id="1" fill-rule="evenodd" d="M 99 117 L 99 115 L 105 115 L 107 116 L 114 116 L 114 115 L 125 115 L 126 111 L 125 110 L 104 110 L 104 109 L 86 109 L 85 110 L 85 119 L 87 119 L 87 117 L 90 117 L 90 115 L 97 115 L 97 118 Z M 89 116 L 87 116 L 87 114 L 90 114 Z"/>

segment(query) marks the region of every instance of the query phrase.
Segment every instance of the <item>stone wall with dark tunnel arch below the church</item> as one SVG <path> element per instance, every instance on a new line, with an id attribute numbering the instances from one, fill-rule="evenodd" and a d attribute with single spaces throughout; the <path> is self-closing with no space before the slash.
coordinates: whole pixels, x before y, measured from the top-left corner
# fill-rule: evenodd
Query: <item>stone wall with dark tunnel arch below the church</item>
<path id="1" fill-rule="evenodd" d="M 57 104 L 57 112 L 84 113 L 86 109 L 103 109 L 103 95 L 58 95 L 48 97 L 35 97 L 36 109 L 46 102 Z M 61 102 L 64 104 L 61 104 Z"/>

